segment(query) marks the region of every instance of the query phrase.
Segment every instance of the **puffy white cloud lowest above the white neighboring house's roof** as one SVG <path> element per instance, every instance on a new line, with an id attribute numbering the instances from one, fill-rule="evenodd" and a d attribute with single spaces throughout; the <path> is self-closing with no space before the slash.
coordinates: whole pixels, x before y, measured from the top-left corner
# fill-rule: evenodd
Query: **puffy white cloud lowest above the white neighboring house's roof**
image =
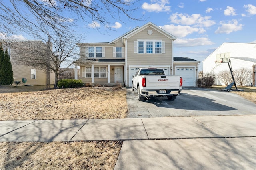
<path id="1" fill-rule="evenodd" d="M 243 28 L 242 24 L 238 24 L 237 20 L 228 21 L 228 23 L 220 22 L 221 26 L 215 31 L 216 34 L 226 33 L 230 34 L 231 32 L 240 31 Z"/>

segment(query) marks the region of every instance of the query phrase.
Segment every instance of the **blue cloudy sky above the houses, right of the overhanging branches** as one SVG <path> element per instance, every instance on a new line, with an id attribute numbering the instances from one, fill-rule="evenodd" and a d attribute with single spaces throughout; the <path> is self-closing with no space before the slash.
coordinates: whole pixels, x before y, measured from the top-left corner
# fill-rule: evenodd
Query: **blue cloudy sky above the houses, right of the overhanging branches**
<path id="1" fill-rule="evenodd" d="M 176 36 L 174 56 L 203 61 L 224 42 L 256 41 L 256 0 L 142 0 L 142 21 L 111 21 L 113 31 L 86 26 L 84 42 L 110 42 L 136 26 L 152 22 Z M 125 20 L 125 17 L 122 18 Z M 92 21 L 93 23 L 93 21 Z M 94 26 L 98 26 L 98 30 Z M 102 34 L 99 34 L 99 31 Z"/>

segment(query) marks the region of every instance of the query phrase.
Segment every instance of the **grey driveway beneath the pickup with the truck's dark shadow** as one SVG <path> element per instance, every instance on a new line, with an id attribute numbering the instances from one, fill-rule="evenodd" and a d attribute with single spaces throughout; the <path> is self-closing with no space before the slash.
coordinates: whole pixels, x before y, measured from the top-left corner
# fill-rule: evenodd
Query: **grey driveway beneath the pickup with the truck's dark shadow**
<path id="1" fill-rule="evenodd" d="M 243 93 L 243 92 L 241 92 Z M 184 87 L 174 101 L 151 97 L 138 101 L 137 93 L 127 89 L 128 118 L 216 115 L 256 115 L 256 105 L 234 93 Z"/>

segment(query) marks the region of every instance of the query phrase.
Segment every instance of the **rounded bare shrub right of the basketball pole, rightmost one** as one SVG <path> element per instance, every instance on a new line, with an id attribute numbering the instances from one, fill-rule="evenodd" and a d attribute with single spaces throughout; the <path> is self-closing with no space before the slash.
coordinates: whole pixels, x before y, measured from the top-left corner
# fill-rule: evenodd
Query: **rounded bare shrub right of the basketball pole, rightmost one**
<path id="1" fill-rule="evenodd" d="M 240 69 L 236 69 L 236 75 L 234 77 L 237 85 L 245 86 L 251 83 L 252 73 L 249 69 L 243 67 Z"/>

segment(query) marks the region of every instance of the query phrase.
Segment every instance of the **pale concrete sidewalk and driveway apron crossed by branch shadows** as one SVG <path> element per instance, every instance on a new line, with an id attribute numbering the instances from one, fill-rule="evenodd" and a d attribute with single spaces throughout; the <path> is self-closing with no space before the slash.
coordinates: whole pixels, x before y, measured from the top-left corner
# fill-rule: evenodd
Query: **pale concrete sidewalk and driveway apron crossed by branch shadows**
<path id="1" fill-rule="evenodd" d="M 1 142 L 124 140 L 116 170 L 255 169 L 255 136 L 256 115 L 0 121 Z"/>

